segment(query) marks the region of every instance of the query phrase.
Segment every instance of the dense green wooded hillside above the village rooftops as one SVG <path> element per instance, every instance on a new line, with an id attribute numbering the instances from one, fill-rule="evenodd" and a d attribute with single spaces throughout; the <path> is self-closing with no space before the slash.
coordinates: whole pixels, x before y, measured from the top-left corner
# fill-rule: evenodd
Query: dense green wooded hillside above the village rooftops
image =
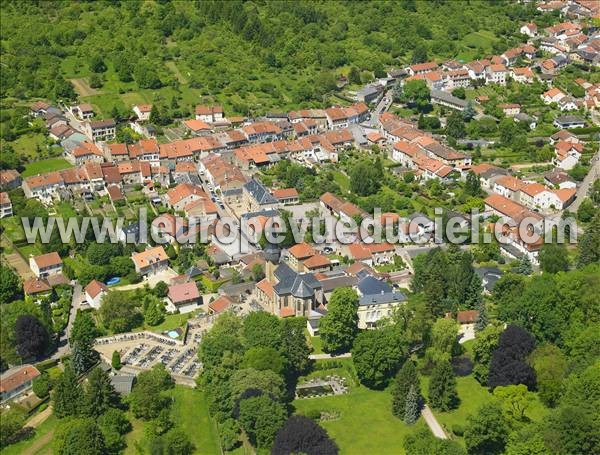
<path id="1" fill-rule="evenodd" d="M 3 1 L 2 9 L 4 107 L 79 95 L 105 117 L 142 102 L 174 116 L 202 99 L 244 115 L 323 105 L 341 74 L 361 84 L 410 62 L 500 53 L 519 42 L 515 23 L 540 14 L 474 0 Z"/>

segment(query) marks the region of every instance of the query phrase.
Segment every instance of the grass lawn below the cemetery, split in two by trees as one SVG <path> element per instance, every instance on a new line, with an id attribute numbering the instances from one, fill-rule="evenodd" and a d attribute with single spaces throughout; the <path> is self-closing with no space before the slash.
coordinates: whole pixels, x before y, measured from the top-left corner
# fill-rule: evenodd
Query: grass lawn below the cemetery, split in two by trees
<path id="1" fill-rule="evenodd" d="M 190 437 L 196 447 L 195 453 L 221 453 L 217 428 L 208 414 L 208 403 L 204 393 L 179 385 L 168 393 L 174 400 L 171 408 L 173 422 Z M 144 423 L 133 419 L 132 425 L 133 430 L 126 437 L 127 448 L 124 453 L 145 453 L 147 441 L 144 436 Z"/>

